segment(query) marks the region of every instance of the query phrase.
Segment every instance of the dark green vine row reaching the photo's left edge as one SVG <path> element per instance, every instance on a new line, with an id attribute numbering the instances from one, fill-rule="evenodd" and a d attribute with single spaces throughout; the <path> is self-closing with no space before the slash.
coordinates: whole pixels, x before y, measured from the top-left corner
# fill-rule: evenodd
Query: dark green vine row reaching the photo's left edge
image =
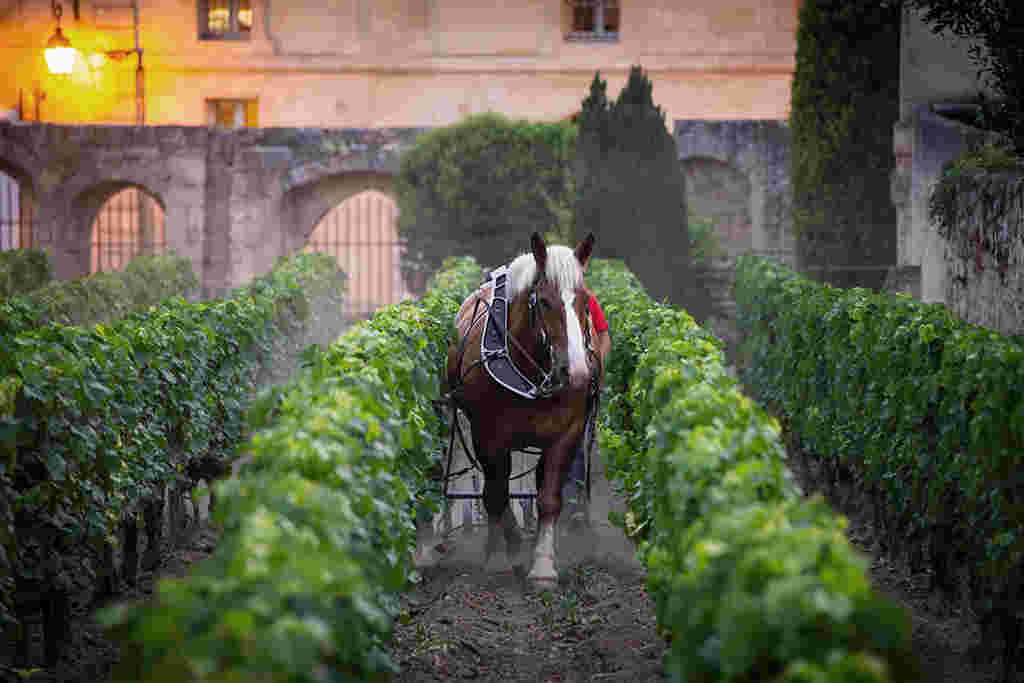
<path id="1" fill-rule="evenodd" d="M 332 274 L 332 272 L 334 274 Z M 308 299 L 343 280 L 299 254 L 223 300 L 167 299 L 91 328 L 48 323 L 0 355 L 0 621 L 13 578 L 58 587 L 122 520 L 241 440 L 253 378 Z M 31 311 L 35 314 L 36 311 Z"/>

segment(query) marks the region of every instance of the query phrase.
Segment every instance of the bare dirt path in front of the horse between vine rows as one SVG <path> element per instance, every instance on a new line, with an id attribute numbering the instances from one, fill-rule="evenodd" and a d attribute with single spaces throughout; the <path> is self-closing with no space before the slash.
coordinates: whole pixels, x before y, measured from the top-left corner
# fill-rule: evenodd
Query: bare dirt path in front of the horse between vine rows
<path id="1" fill-rule="evenodd" d="M 445 541 L 439 563 L 402 598 L 396 682 L 665 679 L 645 569 L 607 521 L 609 508 L 622 503 L 599 461 L 595 455 L 591 530 L 559 537 L 556 589 L 527 590 L 507 558 L 485 572 L 484 527 Z"/>

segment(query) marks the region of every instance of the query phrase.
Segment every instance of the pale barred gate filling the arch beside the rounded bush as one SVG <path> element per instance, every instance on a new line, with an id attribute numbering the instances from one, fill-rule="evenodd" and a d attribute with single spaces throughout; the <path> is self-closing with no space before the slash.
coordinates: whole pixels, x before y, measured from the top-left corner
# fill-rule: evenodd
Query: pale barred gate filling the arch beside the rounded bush
<path id="1" fill-rule="evenodd" d="M 401 276 L 404 245 L 395 229 L 397 217 L 391 198 L 368 189 L 329 211 L 309 236 L 305 250 L 331 254 L 348 275 L 347 322 L 412 298 Z"/>

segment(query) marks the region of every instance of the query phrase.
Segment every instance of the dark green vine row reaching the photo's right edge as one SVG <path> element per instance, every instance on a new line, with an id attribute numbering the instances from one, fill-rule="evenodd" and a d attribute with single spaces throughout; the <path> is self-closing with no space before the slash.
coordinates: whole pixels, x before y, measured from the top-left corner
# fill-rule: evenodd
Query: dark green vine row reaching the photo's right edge
<path id="1" fill-rule="evenodd" d="M 864 493 L 886 547 L 1014 629 L 1024 345 L 941 304 L 836 289 L 754 257 L 739 264 L 736 301 L 746 381 Z"/>

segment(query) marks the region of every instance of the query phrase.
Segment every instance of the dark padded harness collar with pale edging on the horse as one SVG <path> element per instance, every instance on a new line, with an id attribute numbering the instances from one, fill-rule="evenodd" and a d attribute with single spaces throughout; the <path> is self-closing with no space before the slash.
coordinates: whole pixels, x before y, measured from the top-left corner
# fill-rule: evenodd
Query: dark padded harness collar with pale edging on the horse
<path id="1" fill-rule="evenodd" d="M 541 370 L 543 379 L 535 384 L 522 374 L 509 354 L 508 340 L 508 266 L 503 265 L 490 271 L 484 284 L 492 286 L 492 302 L 488 307 L 483 334 L 480 335 L 480 359 L 487 374 L 500 385 L 523 398 L 547 398 L 561 387 L 554 381 L 554 370 Z M 529 294 L 530 318 L 535 319 L 537 295 Z M 547 335 L 545 335 L 545 338 Z M 535 364 L 537 365 L 537 364 Z"/>

